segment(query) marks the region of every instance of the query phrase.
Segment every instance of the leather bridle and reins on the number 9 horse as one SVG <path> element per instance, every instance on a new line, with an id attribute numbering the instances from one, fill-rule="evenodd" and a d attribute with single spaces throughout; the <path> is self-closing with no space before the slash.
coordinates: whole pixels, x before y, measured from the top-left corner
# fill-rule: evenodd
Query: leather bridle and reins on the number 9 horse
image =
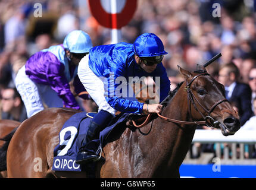
<path id="1" fill-rule="evenodd" d="M 185 125 L 207 125 L 208 127 L 212 126 L 212 127 L 216 127 L 219 122 L 218 121 L 215 121 L 211 116 L 211 112 L 213 112 L 214 108 L 216 106 L 218 106 L 220 103 L 222 102 L 227 102 L 228 100 L 227 99 L 222 99 L 222 100 L 219 100 L 218 102 L 214 103 L 213 106 L 211 106 L 211 108 L 209 110 L 207 110 L 204 106 L 201 105 L 201 103 L 196 99 L 195 95 L 192 93 L 191 91 L 191 84 L 192 82 L 202 76 L 202 75 L 209 75 L 207 72 L 202 72 L 201 74 L 198 74 L 196 75 L 195 77 L 192 78 L 192 80 L 188 83 L 187 81 L 187 84 L 186 84 L 186 92 L 188 93 L 188 106 L 189 106 L 189 115 L 191 116 L 191 103 L 192 105 L 194 106 L 195 110 L 198 111 L 202 117 L 204 118 L 204 121 L 193 121 L 193 122 L 189 122 L 189 121 L 179 121 L 179 120 L 176 120 L 176 119 L 171 119 L 171 118 L 166 118 L 164 116 L 161 116 L 159 113 L 157 113 L 157 115 L 161 118 L 161 119 L 164 119 L 165 121 L 168 121 L 168 122 L 173 122 L 173 123 L 176 123 L 176 124 L 185 124 Z M 199 106 L 202 107 L 202 109 L 205 110 L 206 113 L 208 113 L 207 116 L 204 116 L 202 114 L 202 112 L 200 112 L 200 110 L 198 110 L 198 108 L 196 107 L 196 103 L 194 101 L 194 99 L 196 100 L 196 102 L 198 103 Z M 148 124 L 149 122 L 149 119 L 151 118 L 151 115 L 152 113 L 149 113 L 149 115 L 147 116 L 145 122 L 143 122 L 143 124 L 141 125 L 136 125 L 136 123 L 133 121 L 133 125 L 138 127 L 138 128 L 141 128 L 142 126 Z M 192 116 L 191 116 L 192 118 Z"/>

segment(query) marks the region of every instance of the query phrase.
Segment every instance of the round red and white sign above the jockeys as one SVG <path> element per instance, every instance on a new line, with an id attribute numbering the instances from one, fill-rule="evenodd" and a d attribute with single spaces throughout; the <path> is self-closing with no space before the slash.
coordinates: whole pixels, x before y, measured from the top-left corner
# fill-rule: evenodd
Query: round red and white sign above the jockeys
<path id="1" fill-rule="evenodd" d="M 121 29 L 132 19 L 137 0 L 88 0 L 90 12 L 104 27 Z"/>

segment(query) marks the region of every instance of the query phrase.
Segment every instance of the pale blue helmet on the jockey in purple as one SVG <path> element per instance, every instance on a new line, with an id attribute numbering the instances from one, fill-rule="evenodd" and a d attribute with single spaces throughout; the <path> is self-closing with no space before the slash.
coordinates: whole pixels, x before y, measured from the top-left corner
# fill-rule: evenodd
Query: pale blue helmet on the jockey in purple
<path id="1" fill-rule="evenodd" d="M 67 34 L 63 46 L 71 53 L 88 53 L 92 48 L 92 40 L 84 31 L 74 30 Z"/>

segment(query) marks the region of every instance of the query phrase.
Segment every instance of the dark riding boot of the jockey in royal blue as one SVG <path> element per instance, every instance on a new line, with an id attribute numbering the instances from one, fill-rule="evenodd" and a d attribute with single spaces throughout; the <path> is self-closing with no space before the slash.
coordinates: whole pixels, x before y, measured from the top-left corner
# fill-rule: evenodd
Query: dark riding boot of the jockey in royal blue
<path id="1" fill-rule="evenodd" d="M 88 131 L 85 135 L 85 138 L 83 138 L 82 147 L 77 153 L 77 164 L 85 164 L 87 162 L 95 162 L 99 160 L 99 156 L 96 155 L 96 153 L 86 150 L 86 145 L 90 143 L 90 141 L 99 138 L 99 132 L 107 127 L 112 118 L 113 116 L 111 113 L 101 110 L 99 113 L 97 113 L 96 116 L 94 116 L 92 121 L 90 121 Z M 101 157 L 101 159 L 103 158 Z"/>

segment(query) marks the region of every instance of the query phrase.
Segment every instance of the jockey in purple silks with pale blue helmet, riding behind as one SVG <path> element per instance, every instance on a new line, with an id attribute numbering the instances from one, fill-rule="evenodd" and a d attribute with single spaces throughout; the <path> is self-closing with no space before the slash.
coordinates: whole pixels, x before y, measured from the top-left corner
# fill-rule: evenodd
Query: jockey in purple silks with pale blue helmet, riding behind
<path id="1" fill-rule="evenodd" d="M 67 34 L 63 44 L 30 56 L 15 78 L 28 118 L 43 110 L 43 103 L 48 107 L 80 109 L 68 83 L 74 79 L 75 91 L 85 91 L 77 77 L 77 65 L 91 48 L 90 36 L 74 30 Z"/>

